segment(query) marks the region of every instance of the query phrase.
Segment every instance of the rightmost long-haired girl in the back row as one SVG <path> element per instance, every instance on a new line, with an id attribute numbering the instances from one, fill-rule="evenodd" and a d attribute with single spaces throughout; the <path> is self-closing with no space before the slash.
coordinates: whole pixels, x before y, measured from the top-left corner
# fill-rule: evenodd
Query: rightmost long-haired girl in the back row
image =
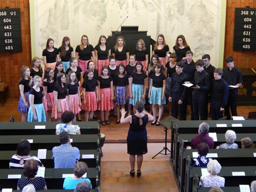
<path id="1" fill-rule="evenodd" d="M 183 35 L 177 36 L 175 46 L 173 47 L 173 53 L 177 55 L 177 61 L 186 61 L 186 52 L 190 51 L 190 47 L 186 42 Z"/>

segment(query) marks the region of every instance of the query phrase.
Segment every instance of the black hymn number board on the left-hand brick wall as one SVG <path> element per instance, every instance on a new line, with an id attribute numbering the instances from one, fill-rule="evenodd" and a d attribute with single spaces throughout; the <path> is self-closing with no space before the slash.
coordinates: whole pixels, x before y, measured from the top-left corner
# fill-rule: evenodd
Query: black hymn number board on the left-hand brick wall
<path id="1" fill-rule="evenodd" d="M 0 52 L 21 52 L 20 8 L 0 9 Z"/>

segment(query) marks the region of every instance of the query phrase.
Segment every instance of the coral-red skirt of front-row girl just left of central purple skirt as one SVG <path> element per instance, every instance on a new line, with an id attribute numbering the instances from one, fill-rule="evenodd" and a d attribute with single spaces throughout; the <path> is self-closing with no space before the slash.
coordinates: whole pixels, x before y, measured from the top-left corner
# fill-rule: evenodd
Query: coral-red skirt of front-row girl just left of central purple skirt
<path id="1" fill-rule="evenodd" d="M 110 111 L 114 108 L 114 103 L 111 101 L 111 90 L 109 88 L 100 89 L 101 101 L 98 102 L 98 109 L 100 111 Z"/>

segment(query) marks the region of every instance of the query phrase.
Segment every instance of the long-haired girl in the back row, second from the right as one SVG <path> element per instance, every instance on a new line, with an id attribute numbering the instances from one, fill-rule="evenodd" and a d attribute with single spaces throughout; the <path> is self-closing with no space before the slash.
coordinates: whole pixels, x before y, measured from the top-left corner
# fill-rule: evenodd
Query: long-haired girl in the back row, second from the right
<path id="1" fill-rule="evenodd" d="M 158 55 L 160 59 L 160 63 L 165 68 L 166 63 L 168 62 L 169 58 L 167 54 L 169 54 L 169 46 L 165 42 L 165 38 L 162 34 L 159 34 L 157 37 L 157 42 L 154 44 L 154 50 L 152 50 L 152 55 Z"/>

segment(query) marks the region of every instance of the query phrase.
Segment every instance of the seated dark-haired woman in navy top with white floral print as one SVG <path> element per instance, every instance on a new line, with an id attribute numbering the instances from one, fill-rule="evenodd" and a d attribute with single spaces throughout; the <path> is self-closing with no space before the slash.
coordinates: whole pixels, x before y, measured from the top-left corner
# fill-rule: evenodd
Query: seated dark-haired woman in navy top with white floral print
<path id="1" fill-rule="evenodd" d="M 207 163 L 209 163 L 209 159 L 207 154 L 209 153 L 209 145 L 207 143 L 200 143 L 197 147 L 198 149 L 198 157 L 191 159 L 191 166 L 193 167 L 206 167 Z"/>

